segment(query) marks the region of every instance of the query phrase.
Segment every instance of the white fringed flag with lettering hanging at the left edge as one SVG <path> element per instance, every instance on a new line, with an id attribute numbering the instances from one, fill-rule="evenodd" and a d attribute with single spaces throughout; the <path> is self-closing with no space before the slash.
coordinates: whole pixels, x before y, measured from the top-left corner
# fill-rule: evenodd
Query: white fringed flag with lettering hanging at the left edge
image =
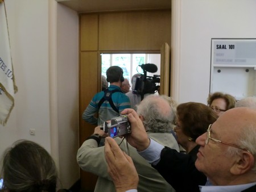
<path id="1" fill-rule="evenodd" d="M 0 0 L 0 123 L 3 126 L 13 110 L 14 94 L 18 91 L 14 81 L 6 15 L 5 2 Z"/>

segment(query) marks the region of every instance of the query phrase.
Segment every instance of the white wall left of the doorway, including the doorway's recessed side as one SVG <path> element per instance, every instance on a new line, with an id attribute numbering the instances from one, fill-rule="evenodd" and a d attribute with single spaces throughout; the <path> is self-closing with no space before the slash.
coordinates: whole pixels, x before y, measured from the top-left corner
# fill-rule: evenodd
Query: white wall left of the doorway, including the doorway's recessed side
<path id="1" fill-rule="evenodd" d="M 35 141 L 51 153 L 61 187 L 69 188 L 79 180 L 79 18 L 55 0 L 5 3 L 19 90 L 0 126 L 0 155 L 18 139 Z"/>

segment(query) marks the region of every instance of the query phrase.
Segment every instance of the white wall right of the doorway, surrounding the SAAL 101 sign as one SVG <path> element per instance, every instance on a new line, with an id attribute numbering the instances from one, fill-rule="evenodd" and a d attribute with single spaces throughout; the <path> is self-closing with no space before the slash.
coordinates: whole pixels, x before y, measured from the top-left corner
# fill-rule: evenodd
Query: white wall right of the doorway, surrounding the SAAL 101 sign
<path id="1" fill-rule="evenodd" d="M 255 0 L 172 0 L 174 98 L 207 103 L 211 38 L 256 38 Z"/>

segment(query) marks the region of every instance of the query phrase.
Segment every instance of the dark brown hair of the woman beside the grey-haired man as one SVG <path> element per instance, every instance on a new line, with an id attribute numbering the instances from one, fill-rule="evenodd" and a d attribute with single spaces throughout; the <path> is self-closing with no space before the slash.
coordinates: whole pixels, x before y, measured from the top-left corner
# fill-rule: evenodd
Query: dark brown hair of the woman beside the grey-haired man
<path id="1" fill-rule="evenodd" d="M 182 124 L 184 134 L 195 141 L 207 131 L 209 124 L 216 121 L 217 115 L 203 103 L 188 102 L 177 106 L 177 118 Z"/>

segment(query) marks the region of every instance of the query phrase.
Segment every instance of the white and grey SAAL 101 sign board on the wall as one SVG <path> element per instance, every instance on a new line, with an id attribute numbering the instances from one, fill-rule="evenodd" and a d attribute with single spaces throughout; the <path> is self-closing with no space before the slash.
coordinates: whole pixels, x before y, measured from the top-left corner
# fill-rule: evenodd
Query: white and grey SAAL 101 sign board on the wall
<path id="1" fill-rule="evenodd" d="M 210 93 L 256 96 L 256 39 L 212 39 Z"/>

